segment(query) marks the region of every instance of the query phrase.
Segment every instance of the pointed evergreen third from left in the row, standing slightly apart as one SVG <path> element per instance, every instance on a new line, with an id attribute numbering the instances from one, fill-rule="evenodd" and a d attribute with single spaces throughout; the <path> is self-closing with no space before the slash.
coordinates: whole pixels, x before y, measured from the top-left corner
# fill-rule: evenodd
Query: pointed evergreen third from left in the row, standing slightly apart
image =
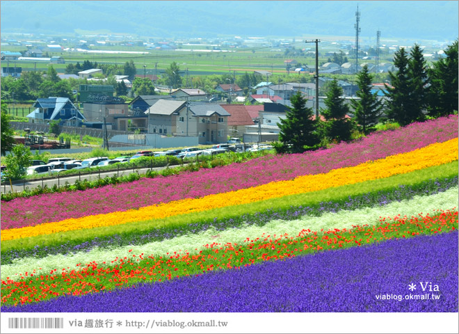
<path id="1" fill-rule="evenodd" d="M 371 93 L 371 79 L 373 77 L 368 72 L 367 65 L 357 74 L 357 97 L 360 100 L 351 100 L 351 105 L 355 110 L 355 122 L 357 129 L 362 131 L 365 136 L 374 131 L 378 118 L 382 113 L 383 105 L 378 100 L 378 92 Z"/>

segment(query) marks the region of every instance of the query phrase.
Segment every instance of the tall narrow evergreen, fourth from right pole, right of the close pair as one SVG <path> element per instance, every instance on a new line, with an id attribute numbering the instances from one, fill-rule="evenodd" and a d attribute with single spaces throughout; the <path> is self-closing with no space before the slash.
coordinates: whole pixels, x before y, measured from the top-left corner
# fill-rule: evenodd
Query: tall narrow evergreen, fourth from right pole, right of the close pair
<path id="1" fill-rule="evenodd" d="M 422 49 L 415 44 L 410 51 L 408 76 L 410 77 L 410 108 L 408 114 L 411 121 L 424 120 L 423 111 L 427 106 L 427 67 Z"/>

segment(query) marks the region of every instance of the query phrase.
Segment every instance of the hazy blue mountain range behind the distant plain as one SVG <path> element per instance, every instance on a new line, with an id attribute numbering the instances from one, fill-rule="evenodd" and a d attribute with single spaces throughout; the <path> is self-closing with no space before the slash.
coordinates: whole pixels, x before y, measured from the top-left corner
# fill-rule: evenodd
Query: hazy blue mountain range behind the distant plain
<path id="1" fill-rule="evenodd" d="M 355 35 L 455 40 L 458 1 L 1 1 L 3 33 L 131 33 L 156 38 Z"/>

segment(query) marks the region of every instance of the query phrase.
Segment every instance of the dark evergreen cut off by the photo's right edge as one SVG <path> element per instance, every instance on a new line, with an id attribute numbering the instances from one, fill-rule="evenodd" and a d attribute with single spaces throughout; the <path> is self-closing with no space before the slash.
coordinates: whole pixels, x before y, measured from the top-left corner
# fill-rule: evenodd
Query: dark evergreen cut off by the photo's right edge
<path id="1" fill-rule="evenodd" d="M 447 116 L 458 112 L 458 40 L 444 51 L 441 58 L 428 70 L 428 115 Z"/>

